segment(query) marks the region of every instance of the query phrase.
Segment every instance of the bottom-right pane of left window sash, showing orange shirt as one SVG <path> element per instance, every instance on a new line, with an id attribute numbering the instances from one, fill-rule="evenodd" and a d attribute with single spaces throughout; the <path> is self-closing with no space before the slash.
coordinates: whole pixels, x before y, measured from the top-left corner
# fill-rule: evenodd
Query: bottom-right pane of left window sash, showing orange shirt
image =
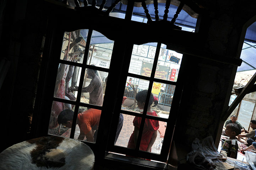
<path id="1" fill-rule="evenodd" d="M 98 134 L 100 115 L 101 111 L 98 109 L 79 107 L 74 138 L 95 143 Z"/>

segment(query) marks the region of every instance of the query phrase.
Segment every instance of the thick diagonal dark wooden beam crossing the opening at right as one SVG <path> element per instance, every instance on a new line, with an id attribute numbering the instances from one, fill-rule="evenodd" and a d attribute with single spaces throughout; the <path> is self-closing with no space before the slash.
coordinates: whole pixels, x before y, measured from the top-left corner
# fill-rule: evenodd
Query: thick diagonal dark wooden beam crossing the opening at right
<path id="1" fill-rule="evenodd" d="M 244 96 L 250 91 L 251 87 L 254 85 L 256 81 L 256 73 L 252 76 L 249 82 L 245 85 L 243 90 L 239 93 L 239 95 L 235 98 L 233 103 L 228 107 L 228 110 L 224 113 L 223 120 L 226 120 L 229 115 L 234 111 L 236 106 L 243 100 Z"/>

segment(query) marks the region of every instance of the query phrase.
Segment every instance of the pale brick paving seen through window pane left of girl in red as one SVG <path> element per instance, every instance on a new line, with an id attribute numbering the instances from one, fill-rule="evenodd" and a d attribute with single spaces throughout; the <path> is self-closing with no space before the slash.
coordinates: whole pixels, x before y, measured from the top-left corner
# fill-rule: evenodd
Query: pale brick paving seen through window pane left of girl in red
<path id="1" fill-rule="evenodd" d="M 122 125 L 122 130 L 119 134 L 119 137 L 115 143 L 116 146 L 127 147 L 130 136 L 134 131 L 134 126 L 132 121 L 134 120 L 135 116 L 122 114 L 124 117 L 124 122 Z"/>

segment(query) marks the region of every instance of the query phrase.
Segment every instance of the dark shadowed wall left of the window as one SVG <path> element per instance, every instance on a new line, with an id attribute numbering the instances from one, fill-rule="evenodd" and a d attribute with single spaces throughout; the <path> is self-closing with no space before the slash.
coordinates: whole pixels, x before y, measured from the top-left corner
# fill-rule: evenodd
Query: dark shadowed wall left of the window
<path id="1" fill-rule="evenodd" d="M 0 91 L 2 148 L 29 138 L 47 22 L 42 1 L 6 1 L 1 31 L 1 56 L 10 61 Z"/>

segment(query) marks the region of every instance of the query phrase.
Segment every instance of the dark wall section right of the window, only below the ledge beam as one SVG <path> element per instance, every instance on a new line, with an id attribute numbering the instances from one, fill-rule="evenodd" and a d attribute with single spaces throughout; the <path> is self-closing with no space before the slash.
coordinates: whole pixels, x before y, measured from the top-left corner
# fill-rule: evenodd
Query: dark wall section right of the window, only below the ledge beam
<path id="1" fill-rule="evenodd" d="M 190 66 L 183 90 L 180 117 L 174 140 L 191 145 L 195 138 L 217 135 L 226 95 L 230 91 L 232 66 L 185 56 Z M 228 98 L 229 99 L 229 98 Z M 223 125 L 222 125 L 223 126 Z"/>

